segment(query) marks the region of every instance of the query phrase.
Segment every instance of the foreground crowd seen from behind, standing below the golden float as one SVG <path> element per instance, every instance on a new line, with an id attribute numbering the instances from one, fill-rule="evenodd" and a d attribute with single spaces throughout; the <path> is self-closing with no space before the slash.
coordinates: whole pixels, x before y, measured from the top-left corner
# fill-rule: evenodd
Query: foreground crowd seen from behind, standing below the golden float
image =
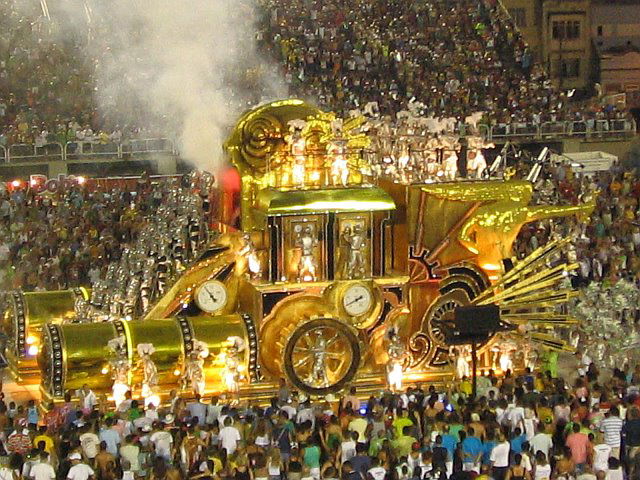
<path id="1" fill-rule="evenodd" d="M 128 394 L 114 411 L 87 385 L 46 413 L 3 398 L 0 478 L 638 478 L 640 368 L 579 374 L 568 385 L 551 371 L 491 371 L 475 397 L 464 377 L 367 400 L 355 387 L 312 400 L 281 381 L 266 408 L 172 391 L 146 407 Z"/>

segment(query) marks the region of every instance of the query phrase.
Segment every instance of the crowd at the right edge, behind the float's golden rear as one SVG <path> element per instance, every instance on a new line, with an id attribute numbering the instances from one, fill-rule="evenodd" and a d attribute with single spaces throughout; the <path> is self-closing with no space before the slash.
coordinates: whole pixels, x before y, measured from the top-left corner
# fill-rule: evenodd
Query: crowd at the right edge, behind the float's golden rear
<path id="1" fill-rule="evenodd" d="M 523 227 L 516 255 L 524 258 L 552 238 L 570 236 L 579 268 L 574 285 L 615 283 L 625 278 L 640 285 L 640 177 L 616 163 L 609 171 L 584 176 L 571 165 L 548 165 L 537 185 L 547 202 L 576 204 L 585 192 L 597 192 L 589 219 L 569 217 Z"/>

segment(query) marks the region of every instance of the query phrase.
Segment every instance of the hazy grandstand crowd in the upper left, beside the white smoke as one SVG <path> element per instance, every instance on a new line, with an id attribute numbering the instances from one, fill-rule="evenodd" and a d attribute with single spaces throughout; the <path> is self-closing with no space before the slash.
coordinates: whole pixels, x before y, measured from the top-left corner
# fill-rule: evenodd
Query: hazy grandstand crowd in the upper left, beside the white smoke
<path id="1" fill-rule="evenodd" d="M 118 123 L 96 104 L 96 59 L 65 38 L 40 5 L 0 1 L 0 145 L 119 142 L 158 137 L 139 118 Z M 146 128 L 146 127 L 145 127 Z"/>

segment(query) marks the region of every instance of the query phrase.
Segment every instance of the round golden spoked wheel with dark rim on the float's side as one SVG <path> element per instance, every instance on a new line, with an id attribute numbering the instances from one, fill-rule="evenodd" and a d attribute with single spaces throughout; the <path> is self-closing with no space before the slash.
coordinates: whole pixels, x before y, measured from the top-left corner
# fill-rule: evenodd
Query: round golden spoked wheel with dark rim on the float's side
<path id="1" fill-rule="evenodd" d="M 351 327 L 331 317 L 298 327 L 283 351 L 284 373 L 299 390 L 326 395 L 342 390 L 360 365 L 360 344 Z"/>

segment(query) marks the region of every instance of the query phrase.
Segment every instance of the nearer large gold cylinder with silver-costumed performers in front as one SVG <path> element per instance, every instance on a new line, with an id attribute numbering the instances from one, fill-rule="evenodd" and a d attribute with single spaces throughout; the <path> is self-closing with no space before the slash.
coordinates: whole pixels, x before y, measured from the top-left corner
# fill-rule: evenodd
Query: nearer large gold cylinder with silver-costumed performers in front
<path id="1" fill-rule="evenodd" d="M 151 358 L 158 369 L 161 393 L 178 387 L 180 375 L 176 373 L 182 370 L 183 358 L 193 339 L 205 342 L 209 348 L 210 355 L 205 361 L 207 390 L 223 389 L 223 365 L 218 359 L 224 354 L 229 337 L 240 337 L 244 341 L 243 369 L 251 378 L 257 374 L 257 338 L 253 322 L 246 315 L 92 324 L 48 323 L 43 330 L 42 350 L 38 356 L 44 397 L 60 399 L 65 391 L 77 390 L 84 384 L 96 392 L 109 392 L 112 379 L 108 365 L 112 354 L 107 342 L 119 335 L 126 339 L 127 353 L 134 367 L 131 376 L 134 396 L 142 383 L 142 371 L 135 369 L 140 343 L 151 343 L 155 348 Z"/>

